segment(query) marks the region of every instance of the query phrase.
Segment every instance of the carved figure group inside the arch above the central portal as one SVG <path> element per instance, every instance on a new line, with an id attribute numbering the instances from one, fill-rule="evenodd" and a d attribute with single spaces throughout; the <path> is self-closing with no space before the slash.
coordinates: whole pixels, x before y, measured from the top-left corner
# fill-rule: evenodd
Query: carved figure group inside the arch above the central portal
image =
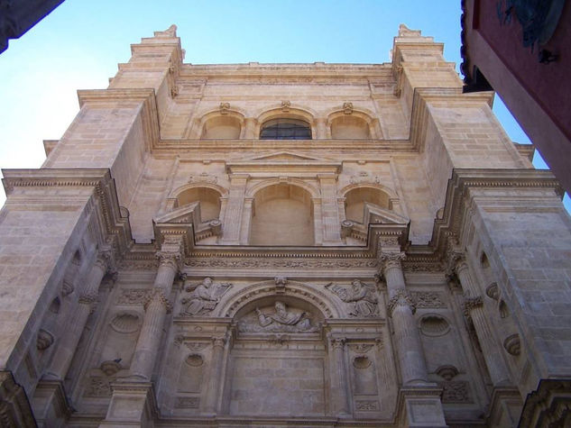
<path id="1" fill-rule="evenodd" d="M 312 323 L 312 316 L 307 311 L 288 306 L 276 301 L 273 309 L 256 307 L 244 316 L 239 325 L 241 332 L 316 332 L 318 327 Z"/>

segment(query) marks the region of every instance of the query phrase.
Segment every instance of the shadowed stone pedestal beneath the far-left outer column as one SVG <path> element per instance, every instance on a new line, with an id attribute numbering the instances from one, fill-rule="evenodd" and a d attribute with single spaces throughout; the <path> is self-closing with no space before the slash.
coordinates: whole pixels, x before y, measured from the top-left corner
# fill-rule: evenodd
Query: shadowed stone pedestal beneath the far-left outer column
<path id="1" fill-rule="evenodd" d="M 42 378 L 32 398 L 33 414 L 38 427 L 62 426 L 73 412 L 73 407 L 60 379 Z"/>

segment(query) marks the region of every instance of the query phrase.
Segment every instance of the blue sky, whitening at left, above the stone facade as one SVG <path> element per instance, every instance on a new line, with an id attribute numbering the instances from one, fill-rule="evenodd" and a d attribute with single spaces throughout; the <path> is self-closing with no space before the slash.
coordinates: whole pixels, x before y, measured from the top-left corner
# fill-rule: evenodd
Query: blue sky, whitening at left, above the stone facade
<path id="1" fill-rule="evenodd" d="M 172 23 L 194 64 L 382 63 L 405 23 L 444 42 L 458 69 L 460 14 L 459 0 L 66 0 L 0 55 L 0 167 L 40 167 L 41 141 L 78 113 L 76 90 L 105 88 L 131 43 Z M 513 141 L 529 142 L 497 97 L 494 111 Z"/>

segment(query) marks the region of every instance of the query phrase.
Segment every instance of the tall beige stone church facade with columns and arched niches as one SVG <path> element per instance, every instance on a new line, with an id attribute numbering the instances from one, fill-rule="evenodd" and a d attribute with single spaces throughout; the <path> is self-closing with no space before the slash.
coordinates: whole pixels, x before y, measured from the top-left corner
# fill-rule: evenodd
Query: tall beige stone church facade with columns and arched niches
<path id="1" fill-rule="evenodd" d="M 42 168 L 3 171 L 2 423 L 513 426 L 533 391 L 526 420 L 565 417 L 561 189 L 442 50 L 405 26 L 378 65 L 133 45 Z"/>

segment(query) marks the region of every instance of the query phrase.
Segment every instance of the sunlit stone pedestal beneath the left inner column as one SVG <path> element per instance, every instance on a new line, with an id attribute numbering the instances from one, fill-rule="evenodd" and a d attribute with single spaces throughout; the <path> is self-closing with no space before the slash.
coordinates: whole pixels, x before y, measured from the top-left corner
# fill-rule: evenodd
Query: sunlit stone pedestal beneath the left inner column
<path id="1" fill-rule="evenodd" d="M 113 382 L 113 396 L 107 409 L 105 428 L 152 427 L 158 411 L 151 382 Z"/>

